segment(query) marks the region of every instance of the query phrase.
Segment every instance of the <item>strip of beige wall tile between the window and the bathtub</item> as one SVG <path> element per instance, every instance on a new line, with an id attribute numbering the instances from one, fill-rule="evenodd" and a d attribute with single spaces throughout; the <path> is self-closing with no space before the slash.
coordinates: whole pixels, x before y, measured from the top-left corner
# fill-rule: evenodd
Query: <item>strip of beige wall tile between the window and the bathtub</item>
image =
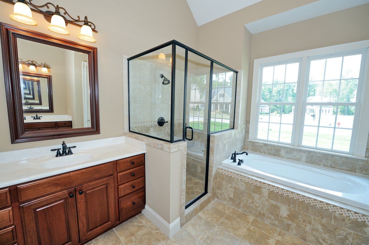
<path id="1" fill-rule="evenodd" d="M 247 121 L 247 133 L 245 141 L 245 149 L 258 153 L 273 155 L 275 157 L 283 157 L 295 161 L 307 162 L 323 167 L 335 168 L 344 171 L 354 172 L 357 174 L 369 175 L 369 159 L 362 160 L 352 157 L 343 157 L 332 154 L 325 154 L 316 151 L 300 150 L 290 147 L 275 146 L 260 142 L 248 141 L 250 122 Z M 366 158 L 369 158 L 369 139 L 366 146 Z"/>

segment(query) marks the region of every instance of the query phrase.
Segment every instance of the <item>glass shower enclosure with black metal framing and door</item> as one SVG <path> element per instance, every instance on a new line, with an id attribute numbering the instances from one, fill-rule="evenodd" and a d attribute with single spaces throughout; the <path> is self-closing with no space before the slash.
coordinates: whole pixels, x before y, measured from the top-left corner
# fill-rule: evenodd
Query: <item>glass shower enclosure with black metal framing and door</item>
<path id="1" fill-rule="evenodd" d="M 187 141 L 186 208 L 207 193 L 210 134 L 234 128 L 237 71 L 175 40 L 128 58 L 129 131 Z"/>

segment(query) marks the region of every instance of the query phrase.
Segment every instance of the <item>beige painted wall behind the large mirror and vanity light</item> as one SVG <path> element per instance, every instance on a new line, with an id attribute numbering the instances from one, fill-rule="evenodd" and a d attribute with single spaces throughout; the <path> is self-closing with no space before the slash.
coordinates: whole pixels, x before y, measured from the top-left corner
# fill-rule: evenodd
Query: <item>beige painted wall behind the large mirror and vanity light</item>
<path id="1" fill-rule="evenodd" d="M 44 4 L 42 0 L 32 2 Z M 78 39 L 80 28 L 73 25 L 67 26 L 70 35 L 48 31 L 49 23 L 37 13 L 33 13 L 38 23 L 35 27 L 12 21 L 9 14 L 13 13 L 13 5 L 3 1 L 0 1 L 0 22 L 97 47 L 101 133 L 68 138 L 66 143 L 123 135 L 123 55 L 132 56 L 172 39 L 197 49 L 197 25 L 184 0 L 124 0 L 111 3 L 101 3 L 97 0 L 63 0 L 54 3 L 65 7 L 72 16 L 80 15 L 83 18 L 87 15 L 99 31 L 94 33 L 96 43 Z M 2 64 L 2 56 L 0 59 Z M 0 68 L 0 74 L 3 74 L 3 66 Z M 3 75 L 0 75 L 0 103 L 6 104 Z M 2 106 L 0 115 L 7 114 L 6 106 Z M 7 116 L 0 117 L 0 127 L 0 151 L 48 146 L 62 141 L 56 139 L 11 144 Z"/>

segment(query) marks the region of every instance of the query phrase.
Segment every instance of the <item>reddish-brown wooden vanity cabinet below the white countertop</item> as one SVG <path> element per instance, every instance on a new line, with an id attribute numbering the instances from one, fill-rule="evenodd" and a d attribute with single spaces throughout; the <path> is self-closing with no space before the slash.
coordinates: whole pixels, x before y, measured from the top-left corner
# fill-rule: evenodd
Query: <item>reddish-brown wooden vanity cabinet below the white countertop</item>
<path id="1" fill-rule="evenodd" d="M 0 189 L 0 245 L 84 244 L 137 215 L 145 208 L 144 159 L 141 154 Z"/>

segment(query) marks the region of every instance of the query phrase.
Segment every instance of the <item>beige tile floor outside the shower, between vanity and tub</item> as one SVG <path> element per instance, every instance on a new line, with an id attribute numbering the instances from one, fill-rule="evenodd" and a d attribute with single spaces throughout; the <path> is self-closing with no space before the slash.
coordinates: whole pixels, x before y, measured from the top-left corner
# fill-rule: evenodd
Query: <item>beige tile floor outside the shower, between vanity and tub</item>
<path id="1" fill-rule="evenodd" d="M 143 214 L 139 214 L 88 243 L 88 245 L 97 244 L 294 245 L 307 243 L 215 199 L 170 239 Z"/>

